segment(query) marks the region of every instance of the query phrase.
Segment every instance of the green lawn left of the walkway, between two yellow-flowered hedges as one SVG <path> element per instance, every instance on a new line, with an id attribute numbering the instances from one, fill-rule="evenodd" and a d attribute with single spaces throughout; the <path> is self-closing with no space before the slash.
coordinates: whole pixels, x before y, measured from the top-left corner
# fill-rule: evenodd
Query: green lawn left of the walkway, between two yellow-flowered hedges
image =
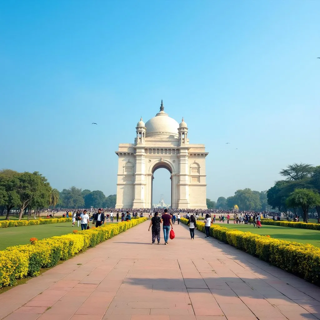
<path id="1" fill-rule="evenodd" d="M 91 226 L 92 223 L 90 222 Z M 81 230 L 81 227 L 77 228 L 77 224 L 72 227 L 72 222 L 0 228 L 0 250 L 12 245 L 29 244 L 29 239 L 33 237 L 41 240 L 52 236 L 66 235 L 67 233 L 72 233 L 75 229 Z"/>

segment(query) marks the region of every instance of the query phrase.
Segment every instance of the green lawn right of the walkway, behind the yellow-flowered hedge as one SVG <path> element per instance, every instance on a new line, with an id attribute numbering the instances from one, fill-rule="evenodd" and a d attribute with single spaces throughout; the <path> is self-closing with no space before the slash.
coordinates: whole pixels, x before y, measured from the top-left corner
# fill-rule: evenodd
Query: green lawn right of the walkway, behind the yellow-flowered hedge
<path id="1" fill-rule="evenodd" d="M 286 241 L 295 241 L 300 243 L 313 244 L 316 247 L 320 247 L 320 231 L 318 230 L 308 230 L 300 228 L 288 228 L 288 227 L 278 227 L 278 226 L 268 226 L 262 225 L 261 228 L 254 228 L 252 225 L 246 224 L 234 224 L 232 223 L 217 223 L 217 225 L 234 228 L 240 231 L 250 231 L 252 233 L 257 233 L 260 235 L 269 235 L 273 238 Z"/>

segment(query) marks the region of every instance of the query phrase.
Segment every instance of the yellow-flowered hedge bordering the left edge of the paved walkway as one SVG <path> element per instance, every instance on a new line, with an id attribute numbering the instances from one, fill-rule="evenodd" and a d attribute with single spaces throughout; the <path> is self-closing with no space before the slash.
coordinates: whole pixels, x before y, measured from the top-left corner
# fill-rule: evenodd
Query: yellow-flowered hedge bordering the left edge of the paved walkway
<path id="1" fill-rule="evenodd" d="M 74 230 L 74 233 L 34 241 L 34 244 L 8 247 L 0 251 L 0 288 L 13 285 L 16 279 L 37 276 L 41 268 L 53 267 L 59 260 L 67 260 L 146 220 L 139 218 L 89 230 Z"/>

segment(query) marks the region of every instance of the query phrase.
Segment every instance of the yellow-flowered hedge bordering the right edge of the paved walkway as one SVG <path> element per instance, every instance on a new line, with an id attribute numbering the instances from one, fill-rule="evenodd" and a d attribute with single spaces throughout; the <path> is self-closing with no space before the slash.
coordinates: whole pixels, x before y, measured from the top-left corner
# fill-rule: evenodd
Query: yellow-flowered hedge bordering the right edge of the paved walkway
<path id="1" fill-rule="evenodd" d="M 188 220 L 181 218 L 181 222 L 186 224 Z M 197 229 L 204 232 L 204 223 L 197 222 Z M 320 285 L 320 248 L 318 247 L 219 225 L 210 227 L 210 235 L 311 283 Z"/>

